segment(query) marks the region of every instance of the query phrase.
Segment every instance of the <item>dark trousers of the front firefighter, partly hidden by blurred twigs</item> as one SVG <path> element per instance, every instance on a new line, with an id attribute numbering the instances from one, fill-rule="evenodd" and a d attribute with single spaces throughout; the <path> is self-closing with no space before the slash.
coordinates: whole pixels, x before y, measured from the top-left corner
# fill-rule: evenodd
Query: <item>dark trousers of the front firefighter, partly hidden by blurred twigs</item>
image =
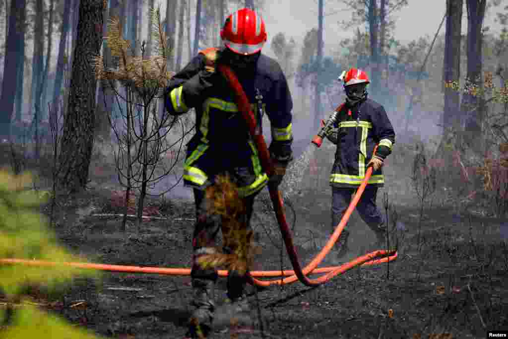
<path id="1" fill-rule="evenodd" d="M 252 206 L 255 197 L 256 194 L 243 198 L 245 215 L 242 224 L 247 230 L 250 229 L 250 218 L 252 217 Z M 201 255 L 214 253 L 217 233 L 222 225 L 220 215 L 207 213 L 205 191 L 194 189 L 194 201 L 196 205 L 196 225 L 193 236 L 194 258 L 190 275 L 193 280 L 193 288 L 199 290 L 205 288 L 205 286 L 210 286 L 211 281 L 215 282 L 217 280 L 217 270 L 202 268 L 197 263 L 197 259 Z M 232 248 L 224 248 L 223 250 L 225 253 L 234 251 Z M 227 280 L 228 297 L 232 300 L 240 297 L 243 294 L 246 282 L 246 274 L 240 276 L 236 271 L 230 271 Z"/>

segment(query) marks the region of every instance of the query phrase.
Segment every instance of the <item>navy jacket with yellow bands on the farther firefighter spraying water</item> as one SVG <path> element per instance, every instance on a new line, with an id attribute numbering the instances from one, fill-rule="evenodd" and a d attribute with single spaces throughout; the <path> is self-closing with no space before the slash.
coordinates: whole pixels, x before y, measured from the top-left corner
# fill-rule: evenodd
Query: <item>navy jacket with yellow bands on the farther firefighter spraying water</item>
<path id="1" fill-rule="evenodd" d="M 373 100 L 366 99 L 350 108 L 342 104 L 334 128 L 327 138 L 337 145 L 335 161 L 330 175 L 334 187 L 360 186 L 365 177 L 367 164 L 375 156 L 385 159 L 392 152 L 395 132 L 385 108 Z M 368 184 L 383 187 L 382 169 L 373 172 Z"/>

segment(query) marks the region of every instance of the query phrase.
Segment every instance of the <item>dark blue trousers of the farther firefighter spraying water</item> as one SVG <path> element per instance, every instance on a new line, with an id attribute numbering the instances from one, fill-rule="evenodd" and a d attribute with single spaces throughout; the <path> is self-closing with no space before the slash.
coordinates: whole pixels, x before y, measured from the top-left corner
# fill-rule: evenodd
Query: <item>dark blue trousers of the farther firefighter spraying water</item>
<path id="1" fill-rule="evenodd" d="M 332 186 L 332 233 L 340 223 L 347 207 L 349 207 L 351 197 L 355 191 L 356 189 L 353 188 L 338 188 Z M 358 201 L 356 205 L 356 209 L 367 226 L 377 234 L 379 231 L 384 230 L 385 221 L 383 214 L 376 206 L 376 195 L 377 187 L 367 185 L 360 201 Z"/>

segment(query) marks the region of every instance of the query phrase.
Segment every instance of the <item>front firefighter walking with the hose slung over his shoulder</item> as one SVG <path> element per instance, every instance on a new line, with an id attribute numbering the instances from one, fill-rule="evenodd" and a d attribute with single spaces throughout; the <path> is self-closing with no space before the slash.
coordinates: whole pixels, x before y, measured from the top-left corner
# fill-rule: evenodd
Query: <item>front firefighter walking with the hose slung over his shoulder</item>
<path id="1" fill-rule="evenodd" d="M 189 321 L 189 337 L 206 336 L 214 311 L 217 272 L 203 269 L 197 260 L 201 255 L 214 253 L 221 220 L 207 213 L 205 189 L 214 184 L 219 174 L 228 174 L 245 204 L 244 224 L 248 229 L 256 195 L 269 181 L 280 184 L 285 168 L 293 159 L 293 102 L 280 66 L 261 54 L 267 40 L 262 17 L 251 9 L 240 9 L 226 19 L 220 37 L 222 46 L 201 51 L 170 80 L 165 91 L 169 114 L 183 114 L 190 108 L 196 110 L 196 133 L 187 145 L 183 169 L 184 185 L 194 191 L 197 219 L 191 272 L 196 310 Z M 219 63 L 230 66 L 236 73 L 253 111 L 259 112 L 259 106 L 269 118 L 272 135 L 269 151 L 277 173 L 271 178 L 261 168 L 256 146 L 235 104 L 235 94 L 216 70 Z M 228 299 L 238 310 L 248 310 L 246 281 L 247 274 L 229 272 Z"/>

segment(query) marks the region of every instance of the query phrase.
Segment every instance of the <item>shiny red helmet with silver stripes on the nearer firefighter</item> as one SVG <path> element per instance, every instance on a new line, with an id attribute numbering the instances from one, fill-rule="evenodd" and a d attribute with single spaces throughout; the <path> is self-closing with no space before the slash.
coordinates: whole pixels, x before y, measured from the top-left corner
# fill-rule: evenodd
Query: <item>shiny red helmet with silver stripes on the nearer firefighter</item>
<path id="1" fill-rule="evenodd" d="M 220 31 L 226 47 L 238 54 L 259 52 L 266 42 L 265 22 L 261 15 L 250 8 L 242 8 L 231 14 Z"/>

